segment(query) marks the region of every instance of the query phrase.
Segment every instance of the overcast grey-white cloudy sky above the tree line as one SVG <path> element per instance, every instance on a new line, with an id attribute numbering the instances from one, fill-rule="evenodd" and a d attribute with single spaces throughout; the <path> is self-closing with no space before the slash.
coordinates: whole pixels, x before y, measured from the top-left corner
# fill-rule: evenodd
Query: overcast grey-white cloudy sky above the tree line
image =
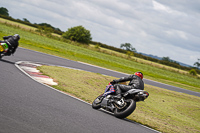
<path id="1" fill-rule="evenodd" d="M 192 65 L 200 59 L 200 0 L 0 0 L 13 18 L 62 31 L 82 25 L 92 40 Z"/>

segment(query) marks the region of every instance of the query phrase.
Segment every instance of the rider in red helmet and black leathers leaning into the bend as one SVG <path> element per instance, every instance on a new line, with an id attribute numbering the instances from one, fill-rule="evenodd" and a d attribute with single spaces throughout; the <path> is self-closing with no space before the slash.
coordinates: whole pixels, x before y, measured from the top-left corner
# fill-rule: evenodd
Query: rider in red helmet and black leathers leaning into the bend
<path id="1" fill-rule="evenodd" d="M 127 77 L 122 77 L 120 79 L 114 79 L 110 83 L 114 86 L 115 89 L 115 96 L 113 98 L 120 100 L 121 99 L 121 93 L 128 91 L 130 89 L 140 89 L 144 90 L 144 82 L 143 82 L 143 73 L 142 72 L 135 72 L 132 75 L 129 75 Z M 118 84 L 121 82 L 130 81 L 128 85 L 124 84 Z"/>

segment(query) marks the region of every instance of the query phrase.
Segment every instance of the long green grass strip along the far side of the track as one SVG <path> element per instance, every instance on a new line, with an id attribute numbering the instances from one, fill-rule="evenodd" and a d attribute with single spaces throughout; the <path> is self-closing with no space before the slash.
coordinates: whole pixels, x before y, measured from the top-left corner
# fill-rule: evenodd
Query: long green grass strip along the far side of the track
<path id="1" fill-rule="evenodd" d="M 75 61 L 86 62 L 128 74 L 132 74 L 135 71 L 142 71 L 144 73 L 144 78 L 153 79 L 155 81 L 160 81 L 177 87 L 200 92 L 200 79 L 198 78 L 90 50 L 89 48 L 81 45 L 73 45 L 74 42 L 69 44 L 62 41 L 57 41 L 19 29 L 18 27 L 7 26 L 0 23 L 0 36 L 11 35 L 15 33 L 21 35 L 19 42 L 20 47 Z"/>

